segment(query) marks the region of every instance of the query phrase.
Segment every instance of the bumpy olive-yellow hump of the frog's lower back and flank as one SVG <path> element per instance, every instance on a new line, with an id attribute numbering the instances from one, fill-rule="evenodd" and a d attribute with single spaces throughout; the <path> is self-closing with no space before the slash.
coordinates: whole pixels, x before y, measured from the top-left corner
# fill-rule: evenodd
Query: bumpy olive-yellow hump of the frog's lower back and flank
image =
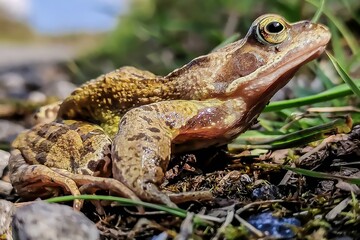
<path id="1" fill-rule="evenodd" d="M 134 67 L 122 67 L 77 88 L 61 104 L 58 117 L 99 124 L 114 136 L 122 115 L 130 109 L 173 98 L 167 80 Z"/>

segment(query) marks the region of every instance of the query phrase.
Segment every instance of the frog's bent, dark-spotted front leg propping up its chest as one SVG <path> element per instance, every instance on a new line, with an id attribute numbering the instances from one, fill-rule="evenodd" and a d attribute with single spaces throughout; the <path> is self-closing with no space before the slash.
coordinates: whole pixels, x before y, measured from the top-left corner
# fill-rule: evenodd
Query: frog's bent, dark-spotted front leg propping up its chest
<path id="1" fill-rule="evenodd" d="M 112 148 L 113 176 L 141 199 L 174 206 L 158 189 L 171 151 L 225 144 L 243 129 L 241 100 L 164 101 L 135 108 L 120 121 Z"/>

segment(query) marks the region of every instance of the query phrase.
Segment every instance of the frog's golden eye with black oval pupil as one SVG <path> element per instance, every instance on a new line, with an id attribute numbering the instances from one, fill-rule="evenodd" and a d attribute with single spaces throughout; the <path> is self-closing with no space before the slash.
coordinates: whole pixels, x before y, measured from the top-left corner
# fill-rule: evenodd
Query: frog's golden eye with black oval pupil
<path id="1" fill-rule="evenodd" d="M 262 43 L 282 43 L 288 36 L 287 24 L 277 16 L 265 17 L 259 22 L 256 35 Z"/>

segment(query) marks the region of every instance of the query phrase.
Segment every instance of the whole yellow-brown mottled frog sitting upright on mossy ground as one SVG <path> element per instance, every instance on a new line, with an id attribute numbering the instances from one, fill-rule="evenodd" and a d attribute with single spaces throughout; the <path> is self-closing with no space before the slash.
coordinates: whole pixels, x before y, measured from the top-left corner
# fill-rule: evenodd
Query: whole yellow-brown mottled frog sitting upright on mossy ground
<path id="1" fill-rule="evenodd" d="M 329 40 L 321 24 L 269 14 L 244 39 L 165 77 L 133 67 L 102 75 L 67 97 L 56 121 L 16 138 L 12 184 L 23 197 L 93 187 L 174 206 L 158 188 L 170 155 L 224 145 L 244 132 Z"/>

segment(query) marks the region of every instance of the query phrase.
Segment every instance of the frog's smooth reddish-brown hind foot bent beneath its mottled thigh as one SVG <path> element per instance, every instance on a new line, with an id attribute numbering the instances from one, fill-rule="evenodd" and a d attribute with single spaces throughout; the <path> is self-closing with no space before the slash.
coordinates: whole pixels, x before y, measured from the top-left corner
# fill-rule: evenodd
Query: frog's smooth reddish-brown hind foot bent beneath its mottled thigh
<path id="1" fill-rule="evenodd" d="M 49 195 L 53 187 L 62 187 L 74 196 L 80 195 L 80 191 L 71 178 L 63 176 L 44 165 L 29 165 L 18 149 L 11 151 L 9 159 L 10 180 L 20 196 L 38 197 L 39 190 Z M 35 194 L 36 193 L 36 194 Z M 74 200 L 74 208 L 80 210 L 83 200 Z"/>

